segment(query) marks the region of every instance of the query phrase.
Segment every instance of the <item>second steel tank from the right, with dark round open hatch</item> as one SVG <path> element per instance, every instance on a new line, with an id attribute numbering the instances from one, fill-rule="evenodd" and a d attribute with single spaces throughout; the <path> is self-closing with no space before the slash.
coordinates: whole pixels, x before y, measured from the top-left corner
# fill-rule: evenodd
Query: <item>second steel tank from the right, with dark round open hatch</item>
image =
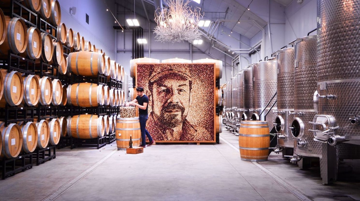
<path id="1" fill-rule="evenodd" d="M 295 118 L 291 122 L 290 129 L 292 136 L 296 138 L 294 140 L 294 154 L 298 156 L 293 158 L 292 162 L 297 162 L 300 169 L 310 167 L 312 157 L 321 157 L 322 143 L 313 140 L 314 134 L 310 131 L 313 126 L 309 123 L 316 115 L 313 98 L 317 90 L 317 45 L 317 35 L 297 39 L 294 45 Z"/>

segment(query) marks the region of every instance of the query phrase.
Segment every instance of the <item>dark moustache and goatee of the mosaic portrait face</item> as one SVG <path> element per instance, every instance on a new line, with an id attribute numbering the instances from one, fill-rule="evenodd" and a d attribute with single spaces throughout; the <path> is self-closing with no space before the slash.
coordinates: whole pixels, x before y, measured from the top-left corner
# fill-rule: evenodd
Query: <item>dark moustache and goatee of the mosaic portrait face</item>
<path id="1" fill-rule="evenodd" d="M 168 104 L 163 107 L 160 112 L 160 117 L 157 119 L 163 125 L 166 125 L 170 128 L 175 128 L 183 123 L 185 120 L 184 116 L 185 108 L 179 104 Z"/>

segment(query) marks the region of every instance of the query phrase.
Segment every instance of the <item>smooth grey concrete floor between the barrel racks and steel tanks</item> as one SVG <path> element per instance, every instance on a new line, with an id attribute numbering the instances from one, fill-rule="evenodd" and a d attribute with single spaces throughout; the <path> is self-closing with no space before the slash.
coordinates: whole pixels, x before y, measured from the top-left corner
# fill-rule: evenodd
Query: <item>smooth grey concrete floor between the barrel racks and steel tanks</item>
<path id="1" fill-rule="evenodd" d="M 116 143 L 63 148 L 54 160 L 0 180 L 0 200 L 360 200 L 359 160 L 345 161 L 354 172 L 324 186 L 319 169 L 299 170 L 275 153 L 266 162 L 242 161 L 238 137 L 226 130 L 220 137 L 220 144 L 156 144 L 137 155 Z"/>

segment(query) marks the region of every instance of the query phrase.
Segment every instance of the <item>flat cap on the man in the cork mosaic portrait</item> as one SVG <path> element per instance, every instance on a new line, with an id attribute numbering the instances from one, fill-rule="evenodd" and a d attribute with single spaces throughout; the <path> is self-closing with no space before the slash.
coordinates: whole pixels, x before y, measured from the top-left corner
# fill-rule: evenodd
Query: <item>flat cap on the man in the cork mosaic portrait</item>
<path id="1" fill-rule="evenodd" d="M 161 65 L 154 65 L 150 71 L 149 75 L 149 82 L 154 82 L 160 77 L 167 75 L 169 73 L 176 73 L 179 74 L 186 79 L 192 81 L 190 77 L 190 70 L 189 66 L 186 64 L 161 64 Z"/>

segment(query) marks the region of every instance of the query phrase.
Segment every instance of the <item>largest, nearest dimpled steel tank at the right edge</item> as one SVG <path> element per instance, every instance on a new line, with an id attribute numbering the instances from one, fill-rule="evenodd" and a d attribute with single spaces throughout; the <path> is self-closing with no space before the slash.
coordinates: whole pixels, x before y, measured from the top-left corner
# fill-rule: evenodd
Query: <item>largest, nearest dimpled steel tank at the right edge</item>
<path id="1" fill-rule="evenodd" d="M 360 158 L 360 0 L 318 0 L 318 115 L 323 183 L 336 181 L 338 158 Z M 334 157 L 337 156 L 337 157 Z"/>

